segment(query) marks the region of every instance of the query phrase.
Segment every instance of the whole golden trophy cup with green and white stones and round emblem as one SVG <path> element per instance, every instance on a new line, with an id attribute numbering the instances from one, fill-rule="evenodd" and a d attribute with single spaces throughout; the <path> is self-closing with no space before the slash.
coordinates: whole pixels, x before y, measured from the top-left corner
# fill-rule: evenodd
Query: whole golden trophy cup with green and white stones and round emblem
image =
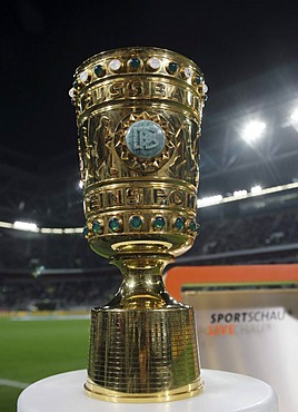
<path id="1" fill-rule="evenodd" d="M 192 60 L 155 47 L 105 51 L 76 70 L 85 236 L 123 276 L 91 310 L 91 396 L 163 402 L 203 389 L 193 310 L 167 293 L 162 271 L 197 235 L 206 91 Z"/>

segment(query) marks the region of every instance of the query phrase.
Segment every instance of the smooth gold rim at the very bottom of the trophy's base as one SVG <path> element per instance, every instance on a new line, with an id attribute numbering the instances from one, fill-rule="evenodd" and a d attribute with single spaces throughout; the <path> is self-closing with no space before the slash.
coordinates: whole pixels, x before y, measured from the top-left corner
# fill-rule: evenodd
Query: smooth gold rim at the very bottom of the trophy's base
<path id="1" fill-rule="evenodd" d="M 121 402 L 121 403 L 148 403 L 179 401 L 182 399 L 196 396 L 203 391 L 203 382 L 198 379 L 196 382 L 175 390 L 161 391 L 156 393 L 123 393 L 108 390 L 96 384 L 90 377 L 85 384 L 87 394 L 101 401 Z"/>

